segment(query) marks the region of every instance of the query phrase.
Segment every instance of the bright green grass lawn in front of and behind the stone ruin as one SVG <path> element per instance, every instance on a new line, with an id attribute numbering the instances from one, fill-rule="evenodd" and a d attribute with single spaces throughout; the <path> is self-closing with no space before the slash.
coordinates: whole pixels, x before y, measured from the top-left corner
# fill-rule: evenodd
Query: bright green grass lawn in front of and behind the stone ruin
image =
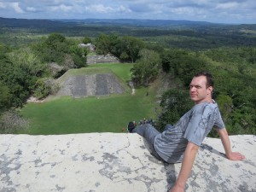
<path id="1" fill-rule="evenodd" d="M 131 64 L 102 64 L 119 79 L 130 79 Z M 84 69 L 83 69 L 84 70 Z M 146 96 L 148 88 L 140 88 L 135 96 L 123 95 L 73 99 L 64 96 L 49 102 L 28 103 L 20 113 L 30 121 L 26 134 L 69 134 L 83 132 L 121 132 L 130 120 L 155 118 L 154 93 Z"/>

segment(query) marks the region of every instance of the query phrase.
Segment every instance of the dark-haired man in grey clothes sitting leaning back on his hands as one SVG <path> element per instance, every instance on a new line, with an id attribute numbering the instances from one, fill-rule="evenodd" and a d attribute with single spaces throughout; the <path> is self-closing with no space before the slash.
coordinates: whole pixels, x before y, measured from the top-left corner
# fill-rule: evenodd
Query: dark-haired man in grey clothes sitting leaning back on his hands
<path id="1" fill-rule="evenodd" d="M 213 80 L 210 73 L 197 73 L 190 83 L 189 95 L 195 106 L 185 113 L 176 125 L 166 125 L 160 133 L 152 125 L 135 127 L 132 122 L 128 131 L 136 132 L 145 137 L 152 153 L 159 160 L 168 163 L 182 162 L 177 181 L 170 192 L 184 191 L 195 161 L 198 148 L 207 134 L 216 127 L 229 160 L 243 160 L 245 156 L 232 152 L 230 139 L 224 122 L 218 110 L 218 105 L 212 100 Z"/>

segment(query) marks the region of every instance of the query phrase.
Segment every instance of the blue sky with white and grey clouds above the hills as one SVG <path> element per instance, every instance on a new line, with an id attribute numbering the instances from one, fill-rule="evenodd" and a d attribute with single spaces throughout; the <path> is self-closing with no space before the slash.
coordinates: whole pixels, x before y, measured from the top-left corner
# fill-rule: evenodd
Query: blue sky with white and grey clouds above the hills
<path id="1" fill-rule="evenodd" d="M 0 0 L 0 17 L 256 24 L 256 0 Z"/>

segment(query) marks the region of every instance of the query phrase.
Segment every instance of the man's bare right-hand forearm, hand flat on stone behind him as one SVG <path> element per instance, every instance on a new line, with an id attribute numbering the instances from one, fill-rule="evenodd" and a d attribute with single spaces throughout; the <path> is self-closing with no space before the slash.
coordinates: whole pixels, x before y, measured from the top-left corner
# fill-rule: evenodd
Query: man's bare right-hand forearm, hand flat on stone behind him
<path id="1" fill-rule="evenodd" d="M 221 139 L 221 142 L 224 146 L 225 154 L 229 160 L 244 160 L 245 156 L 238 153 L 238 152 L 232 152 L 231 147 L 230 147 L 230 138 L 229 134 L 226 131 L 226 129 L 220 129 L 217 130 L 218 135 Z"/>

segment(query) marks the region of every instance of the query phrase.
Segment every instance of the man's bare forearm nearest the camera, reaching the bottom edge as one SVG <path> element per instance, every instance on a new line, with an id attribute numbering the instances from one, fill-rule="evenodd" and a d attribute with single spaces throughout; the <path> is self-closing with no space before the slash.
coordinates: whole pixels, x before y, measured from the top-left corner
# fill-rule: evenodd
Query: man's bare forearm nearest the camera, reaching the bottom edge
<path id="1" fill-rule="evenodd" d="M 184 152 L 183 163 L 177 181 L 170 192 L 183 192 L 187 179 L 189 178 L 192 166 L 195 161 L 195 156 L 197 154 L 199 146 L 194 143 L 188 143 L 187 148 Z"/>

